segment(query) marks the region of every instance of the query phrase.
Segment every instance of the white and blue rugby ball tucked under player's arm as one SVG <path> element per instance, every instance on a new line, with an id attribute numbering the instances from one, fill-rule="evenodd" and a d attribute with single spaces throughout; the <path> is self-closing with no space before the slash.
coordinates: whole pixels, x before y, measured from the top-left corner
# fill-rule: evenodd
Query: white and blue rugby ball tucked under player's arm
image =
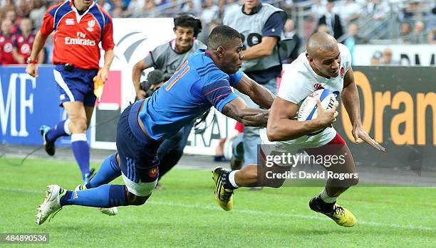
<path id="1" fill-rule="evenodd" d="M 298 120 L 299 122 L 309 121 L 311 119 L 316 119 L 318 114 L 318 105 L 316 104 L 316 99 L 321 101 L 321 105 L 324 109 L 331 109 L 336 102 L 336 97 L 330 90 L 322 89 L 312 92 L 304 99 L 303 103 L 299 107 Z M 324 129 L 315 131 L 308 136 L 313 136 L 321 133 Z"/>

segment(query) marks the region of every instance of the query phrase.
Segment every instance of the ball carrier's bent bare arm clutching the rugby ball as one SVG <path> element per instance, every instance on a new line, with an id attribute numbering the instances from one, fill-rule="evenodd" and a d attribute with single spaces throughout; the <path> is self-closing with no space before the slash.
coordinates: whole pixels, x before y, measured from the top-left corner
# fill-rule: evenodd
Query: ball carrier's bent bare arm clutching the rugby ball
<path id="1" fill-rule="evenodd" d="M 321 106 L 319 99 L 317 104 L 318 114 L 316 119 L 299 122 L 294 119 L 299 110 L 299 105 L 276 97 L 271 106 L 268 125 L 266 126 L 269 141 L 288 141 L 331 126 L 338 116 L 336 112 L 338 102 L 335 103 L 333 108 L 327 110 Z"/>

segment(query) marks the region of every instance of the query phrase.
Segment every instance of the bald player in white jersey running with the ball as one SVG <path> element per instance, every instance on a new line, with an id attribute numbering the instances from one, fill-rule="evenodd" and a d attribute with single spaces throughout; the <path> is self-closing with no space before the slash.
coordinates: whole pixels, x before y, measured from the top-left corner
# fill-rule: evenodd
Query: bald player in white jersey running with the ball
<path id="1" fill-rule="evenodd" d="M 328 178 L 326 187 L 310 200 L 309 207 L 315 212 L 331 217 L 338 225 L 352 227 L 356 222 L 354 215 L 345 207 L 336 204 L 339 195 L 358 183 L 353 156 L 346 142 L 331 126 L 338 116 L 336 112 L 338 102 L 332 109 L 326 110 L 321 107 L 318 99 L 316 119 L 305 122 L 295 119 L 299 104 L 312 92 L 323 88 L 333 92 L 337 99 L 341 97 L 353 124 L 352 134 L 355 142 L 365 141 L 378 151 L 385 151 L 383 146 L 374 141 L 363 129 L 358 90 L 348 48 L 327 33 L 314 33 L 308 40 L 307 51 L 301 53 L 284 72 L 279 93 L 270 109 L 268 125 L 261 131 L 262 144 L 271 146 L 261 147 L 260 161 L 265 163 L 266 156 L 279 150 L 296 153 L 299 149 L 305 149 L 308 154 L 343 154 L 342 163 L 324 166 L 324 168 L 332 173 L 354 176 L 343 180 Z M 308 135 L 320 129 L 323 131 L 316 135 Z M 274 149 L 276 151 L 273 151 Z M 213 178 L 215 199 L 224 210 L 232 209 L 235 189 L 259 185 L 256 165 L 246 166 L 240 171 L 226 171 L 219 167 L 213 171 Z"/>

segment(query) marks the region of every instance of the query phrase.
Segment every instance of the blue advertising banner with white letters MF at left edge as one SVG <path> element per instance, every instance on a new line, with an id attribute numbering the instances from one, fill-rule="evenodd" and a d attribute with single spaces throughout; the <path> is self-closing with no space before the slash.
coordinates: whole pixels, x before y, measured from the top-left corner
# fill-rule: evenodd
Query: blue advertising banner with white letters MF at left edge
<path id="1" fill-rule="evenodd" d="M 54 126 L 66 119 L 59 107 L 58 86 L 52 65 L 38 67 L 36 78 L 24 66 L 0 66 L 0 141 L 2 144 L 42 144 L 39 127 Z M 57 145 L 69 144 L 69 137 Z"/>

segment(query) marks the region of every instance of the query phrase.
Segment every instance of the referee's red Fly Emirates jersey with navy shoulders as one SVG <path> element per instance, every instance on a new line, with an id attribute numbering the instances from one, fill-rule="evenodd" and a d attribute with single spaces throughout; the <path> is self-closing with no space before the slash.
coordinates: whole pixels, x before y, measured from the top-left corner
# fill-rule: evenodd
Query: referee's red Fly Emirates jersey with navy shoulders
<path id="1" fill-rule="evenodd" d="M 93 4 L 82 15 L 73 0 L 52 6 L 44 16 L 41 33 L 53 37 L 53 64 L 71 63 L 76 68 L 94 69 L 100 60 L 100 48 L 113 49 L 112 18 L 101 6 Z"/>

